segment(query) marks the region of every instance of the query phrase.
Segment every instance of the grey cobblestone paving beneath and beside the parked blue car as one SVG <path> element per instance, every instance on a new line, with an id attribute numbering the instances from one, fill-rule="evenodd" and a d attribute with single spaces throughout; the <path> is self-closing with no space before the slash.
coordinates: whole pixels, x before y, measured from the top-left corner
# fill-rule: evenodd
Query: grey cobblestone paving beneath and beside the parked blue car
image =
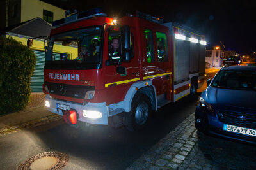
<path id="1" fill-rule="evenodd" d="M 128 169 L 256 169 L 256 147 L 206 136 L 195 113 L 141 155 Z"/>

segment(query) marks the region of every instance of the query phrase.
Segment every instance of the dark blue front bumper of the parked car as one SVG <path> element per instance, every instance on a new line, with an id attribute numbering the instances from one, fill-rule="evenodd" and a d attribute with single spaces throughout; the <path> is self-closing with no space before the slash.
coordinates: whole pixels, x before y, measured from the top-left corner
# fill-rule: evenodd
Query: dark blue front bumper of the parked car
<path id="1" fill-rule="evenodd" d="M 200 123 L 198 123 L 198 119 L 200 119 Z M 218 120 L 216 113 L 214 116 L 213 113 L 202 110 L 202 108 L 200 108 L 199 106 L 196 107 L 195 127 L 199 131 L 202 131 L 205 134 L 212 134 L 214 136 L 234 139 L 236 141 L 242 141 L 245 143 L 251 143 L 253 145 L 256 145 L 255 137 L 224 131 L 223 126 L 224 124 Z"/>

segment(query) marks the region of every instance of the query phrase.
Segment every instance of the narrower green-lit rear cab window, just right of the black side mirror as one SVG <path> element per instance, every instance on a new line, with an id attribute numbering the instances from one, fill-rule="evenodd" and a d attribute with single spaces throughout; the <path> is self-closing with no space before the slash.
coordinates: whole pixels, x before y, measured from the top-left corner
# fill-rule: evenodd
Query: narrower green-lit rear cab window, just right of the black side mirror
<path id="1" fill-rule="evenodd" d="M 150 29 L 145 29 L 145 40 L 146 40 L 146 51 L 147 51 L 147 62 L 154 62 L 154 47 L 153 47 L 153 36 Z"/>

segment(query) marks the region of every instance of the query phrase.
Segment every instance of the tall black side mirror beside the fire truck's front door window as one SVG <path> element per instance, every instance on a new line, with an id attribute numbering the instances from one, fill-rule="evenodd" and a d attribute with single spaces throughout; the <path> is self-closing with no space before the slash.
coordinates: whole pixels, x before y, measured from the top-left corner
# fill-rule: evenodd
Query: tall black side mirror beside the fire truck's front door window
<path id="1" fill-rule="evenodd" d="M 131 62 L 131 36 L 130 27 L 124 25 L 120 28 L 122 62 Z"/>

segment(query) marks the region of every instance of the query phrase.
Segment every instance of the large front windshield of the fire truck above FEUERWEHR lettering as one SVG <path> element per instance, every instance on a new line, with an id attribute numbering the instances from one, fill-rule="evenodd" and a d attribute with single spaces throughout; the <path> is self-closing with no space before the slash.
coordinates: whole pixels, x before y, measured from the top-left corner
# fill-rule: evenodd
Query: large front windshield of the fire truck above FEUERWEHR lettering
<path id="1" fill-rule="evenodd" d="M 46 61 L 93 64 L 100 61 L 100 27 L 51 36 Z"/>

